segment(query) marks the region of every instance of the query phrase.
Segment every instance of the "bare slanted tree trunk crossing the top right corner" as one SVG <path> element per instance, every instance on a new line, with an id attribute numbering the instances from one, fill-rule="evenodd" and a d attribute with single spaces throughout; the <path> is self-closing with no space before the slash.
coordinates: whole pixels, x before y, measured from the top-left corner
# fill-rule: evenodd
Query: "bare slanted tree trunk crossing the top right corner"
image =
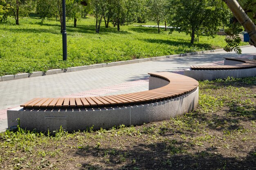
<path id="1" fill-rule="evenodd" d="M 236 0 L 223 0 L 232 11 L 238 22 L 243 25 L 247 33 L 250 35 L 249 44 L 256 47 L 256 26 L 252 20 L 246 15 L 245 11 L 240 7 Z"/>

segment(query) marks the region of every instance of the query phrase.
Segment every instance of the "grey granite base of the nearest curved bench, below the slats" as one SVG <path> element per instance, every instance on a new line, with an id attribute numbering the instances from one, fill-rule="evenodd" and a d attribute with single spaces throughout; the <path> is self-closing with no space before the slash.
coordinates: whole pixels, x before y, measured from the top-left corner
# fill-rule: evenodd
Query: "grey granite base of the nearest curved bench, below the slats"
<path id="1" fill-rule="evenodd" d="M 71 132 L 87 130 L 94 127 L 109 129 L 121 124 L 126 126 L 142 125 L 153 121 L 162 121 L 183 115 L 193 110 L 198 104 L 198 88 L 190 93 L 173 99 L 115 108 L 100 109 L 59 109 L 59 110 L 29 110 L 17 107 L 7 111 L 8 127 L 17 126 L 27 130 L 54 131 L 61 126 Z"/>

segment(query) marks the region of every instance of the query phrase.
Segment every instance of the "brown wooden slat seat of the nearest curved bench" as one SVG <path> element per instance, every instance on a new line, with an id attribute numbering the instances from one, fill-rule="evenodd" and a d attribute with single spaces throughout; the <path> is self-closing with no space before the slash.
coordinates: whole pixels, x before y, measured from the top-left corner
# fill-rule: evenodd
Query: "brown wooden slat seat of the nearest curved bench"
<path id="1" fill-rule="evenodd" d="M 128 106 L 159 102 L 189 93 L 198 87 L 195 79 L 175 73 L 148 73 L 150 76 L 159 77 L 169 82 L 164 87 L 149 91 L 127 93 L 123 95 L 108 95 L 78 98 L 34 98 L 20 105 L 23 108 L 106 108 Z"/>

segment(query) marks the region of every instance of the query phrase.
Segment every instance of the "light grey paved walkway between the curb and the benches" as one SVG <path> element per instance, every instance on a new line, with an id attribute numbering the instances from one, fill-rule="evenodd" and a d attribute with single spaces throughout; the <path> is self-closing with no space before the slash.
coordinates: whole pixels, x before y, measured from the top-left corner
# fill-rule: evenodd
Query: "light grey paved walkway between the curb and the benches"
<path id="1" fill-rule="evenodd" d="M 242 48 L 239 57 L 256 55 L 254 46 Z M 88 97 L 148 90 L 148 72 L 183 73 L 190 65 L 223 64 L 223 57 L 235 53 L 219 51 L 121 66 L 31 77 L 0 82 L 0 131 L 7 128 L 6 110 L 34 97 Z"/>

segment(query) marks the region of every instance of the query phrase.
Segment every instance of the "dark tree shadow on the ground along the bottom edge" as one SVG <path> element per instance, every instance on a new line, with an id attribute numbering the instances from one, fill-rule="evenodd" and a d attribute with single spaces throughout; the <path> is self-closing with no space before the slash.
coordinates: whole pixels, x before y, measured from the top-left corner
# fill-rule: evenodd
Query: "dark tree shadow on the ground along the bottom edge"
<path id="1" fill-rule="evenodd" d="M 75 157 L 90 158 L 90 162 L 80 161 L 81 170 L 88 169 L 147 169 L 147 170 L 254 170 L 256 166 L 256 150 L 250 150 L 246 157 L 224 157 L 216 154 L 217 148 L 190 148 L 183 141 L 172 144 L 159 142 L 153 144 L 137 144 L 127 149 L 117 148 L 82 148 L 75 152 Z M 96 162 L 97 160 L 97 162 Z M 104 168 L 103 168 L 104 167 Z M 108 168 L 111 167 L 111 168 Z"/>

